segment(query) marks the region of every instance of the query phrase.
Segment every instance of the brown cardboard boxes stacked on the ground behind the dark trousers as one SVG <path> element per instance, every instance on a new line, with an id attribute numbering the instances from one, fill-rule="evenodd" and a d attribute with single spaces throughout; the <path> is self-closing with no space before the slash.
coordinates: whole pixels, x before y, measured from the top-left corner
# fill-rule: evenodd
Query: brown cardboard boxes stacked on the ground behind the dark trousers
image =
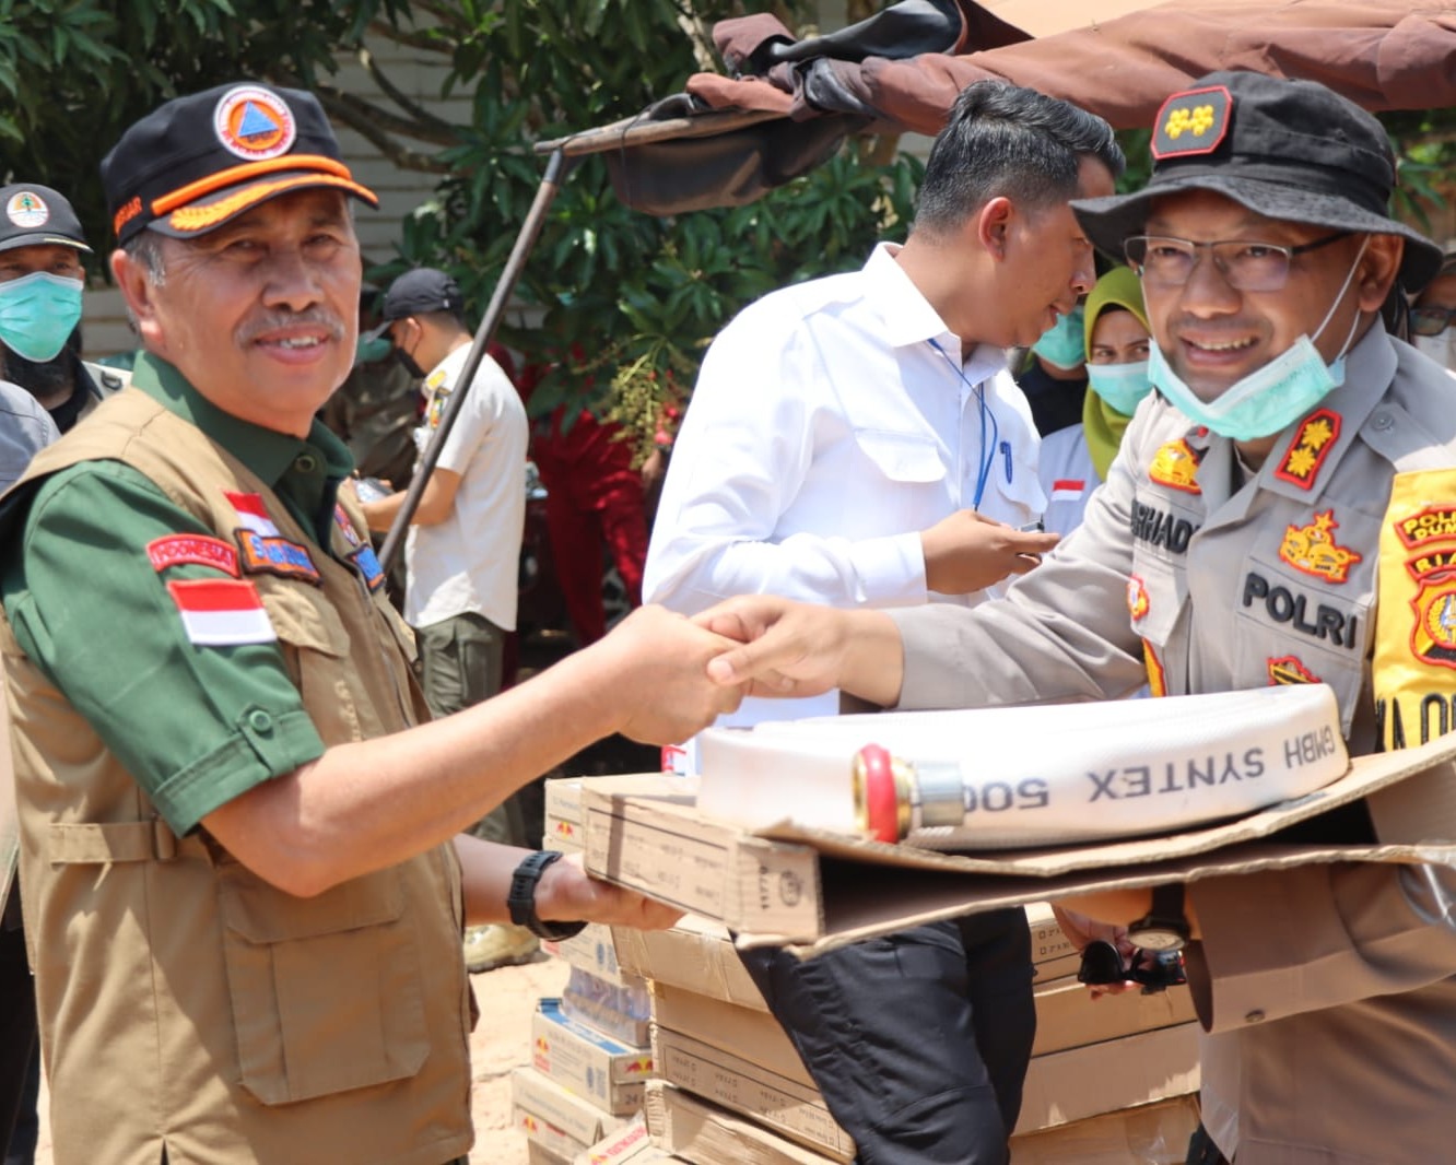
<path id="1" fill-rule="evenodd" d="M 547 845 L 582 845 L 579 795 L 579 781 L 547 786 Z M 1013 1165 L 1181 1162 L 1198 1088 L 1187 989 L 1093 1002 L 1076 982 L 1077 955 L 1050 907 L 1028 907 L 1028 919 L 1038 1031 Z M 769 1015 L 722 925 L 689 915 L 660 932 L 588 926 L 556 949 L 572 964 L 572 983 L 559 1005 L 542 1002 L 536 1065 L 515 1082 L 533 1161 L 571 1162 L 569 1150 L 577 1165 L 853 1159 L 853 1142 Z M 648 1037 L 649 1048 L 642 1047 Z M 563 1098 L 572 1098 L 571 1108 Z M 639 1104 L 645 1130 L 613 1124 Z M 585 1149 L 593 1113 L 603 1139 Z"/>

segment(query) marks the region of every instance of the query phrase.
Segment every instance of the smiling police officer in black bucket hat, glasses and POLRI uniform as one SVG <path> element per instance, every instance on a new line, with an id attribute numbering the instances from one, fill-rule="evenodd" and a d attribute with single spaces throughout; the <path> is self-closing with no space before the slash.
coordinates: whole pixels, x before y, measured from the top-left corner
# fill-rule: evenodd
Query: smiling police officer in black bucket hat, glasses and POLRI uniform
<path id="1" fill-rule="evenodd" d="M 1144 189 L 1073 202 L 1139 269 L 1158 342 L 1159 392 L 1086 523 L 974 610 L 732 600 L 705 625 L 760 638 L 715 674 L 898 708 L 1324 682 L 1354 753 L 1452 727 L 1456 409 L 1446 371 L 1382 322 L 1441 253 L 1388 216 L 1385 131 L 1321 84 L 1216 73 L 1169 98 L 1152 151 Z M 1369 837 L 1363 807 L 1337 818 Z M 1190 1161 L 1449 1159 L 1456 869 L 1307 865 L 1184 899 L 1076 909 L 1191 939 L 1207 1034 Z"/>

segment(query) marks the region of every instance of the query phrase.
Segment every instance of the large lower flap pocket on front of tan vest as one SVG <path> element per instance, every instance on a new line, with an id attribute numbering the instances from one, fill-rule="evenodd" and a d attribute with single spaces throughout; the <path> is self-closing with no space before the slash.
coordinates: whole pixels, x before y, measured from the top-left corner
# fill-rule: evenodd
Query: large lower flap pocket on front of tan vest
<path id="1" fill-rule="evenodd" d="M 217 872 L 243 1088 L 290 1104 L 414 1076 L 430 1038 L 402 871 L 313 899 Z"/>

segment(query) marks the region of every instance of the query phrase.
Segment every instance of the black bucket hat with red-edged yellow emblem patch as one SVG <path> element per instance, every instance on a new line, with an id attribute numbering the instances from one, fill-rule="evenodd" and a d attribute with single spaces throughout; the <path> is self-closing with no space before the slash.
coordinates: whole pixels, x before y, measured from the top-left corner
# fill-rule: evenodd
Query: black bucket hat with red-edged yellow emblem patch
<path id="1" fill-rule="evenodd" d="M 1268 218 L 1399 234 L 1406 291 L 1418 291 L 1441 268 L 1436 243 L 1389 217 L 1395 156 L 1385 128 L 1318 82 L 1210 73 L 1163 102 L 1152 153 L 1143 189 L 1072 204 L 1088 237 L 1118 261 L 1155 198 L 1197 189 Z"/>

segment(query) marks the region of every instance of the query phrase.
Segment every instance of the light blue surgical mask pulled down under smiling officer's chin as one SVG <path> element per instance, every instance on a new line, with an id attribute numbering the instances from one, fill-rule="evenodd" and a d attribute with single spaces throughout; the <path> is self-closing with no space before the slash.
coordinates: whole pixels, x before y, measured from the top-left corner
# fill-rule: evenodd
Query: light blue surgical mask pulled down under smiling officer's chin
<path id="1" fill-rule="evenodd" d="M 1345 275 L 1345 281 L 1340 287 L 1340 294 L 1335 296 L 1325 319 L 1315 329 L 1315 338 L 1325 331 L 1340 301 L 1345 297 L 1369 242 L 1370 236 L 1366 236 L 1354 264 L 1350 266 L 1350 274 Z M 1235 441 L 1273 437 L 1283 433 L 1345 383 L 1345 350 L 1348 350 L 1350 339 L 1354 338 L 1358 325 L 1360 315 L 1356 313 L 1356 319 L 1350 325 L 1350 335 L 1334 364 L 1325 364 L 1315 341 L 1306 333 L 1268 364 L 1255 368 L 1242 380 L 1226 387 L 1214 400 L 1200 399 L 1168 366 L 1162 348 L 1156 344 L 1149 352 L 1147 376 L 1179 412 L 1220 437 L 1230 437 Z"/>

